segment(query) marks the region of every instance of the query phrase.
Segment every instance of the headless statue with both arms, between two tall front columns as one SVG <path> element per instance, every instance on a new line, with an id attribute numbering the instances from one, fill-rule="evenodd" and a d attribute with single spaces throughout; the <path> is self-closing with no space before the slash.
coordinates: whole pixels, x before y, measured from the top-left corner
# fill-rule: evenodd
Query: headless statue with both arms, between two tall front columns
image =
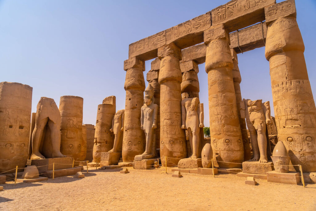
<path id="1" fill-rule="evenodd" d="M 192 155 L 189 158 L 199 158 L 200 128 L 204 127 L 203 103 L 197 97 L 185 98 L 181 102 L 182 129 L 187 129 Z"/>

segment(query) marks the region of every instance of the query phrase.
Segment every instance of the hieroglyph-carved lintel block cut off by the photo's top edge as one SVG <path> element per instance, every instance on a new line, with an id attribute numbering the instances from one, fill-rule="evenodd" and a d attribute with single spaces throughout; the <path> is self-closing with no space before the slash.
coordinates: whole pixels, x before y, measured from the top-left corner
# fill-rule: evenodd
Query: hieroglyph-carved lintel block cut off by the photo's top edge
<path id="1" fill-rule="evenodd" d="M 275 0 L 232 0 L 212 9 L 212 25 L 224 24 L 228 32 L 264 21 L 264 7 L 275 4 Z"/>

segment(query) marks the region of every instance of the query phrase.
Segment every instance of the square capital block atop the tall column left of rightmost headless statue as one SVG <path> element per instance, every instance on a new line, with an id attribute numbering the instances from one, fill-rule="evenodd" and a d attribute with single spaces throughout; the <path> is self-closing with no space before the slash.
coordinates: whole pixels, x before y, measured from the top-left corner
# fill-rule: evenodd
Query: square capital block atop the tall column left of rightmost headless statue
<path id="1" fill-rule="evenodd" d="M 226 39 L 229 41 L 229 34 L 224 27 L 224 24 L 211 26 L 204 31 L 204 43 L 207 45 L 212 40 Z"/>

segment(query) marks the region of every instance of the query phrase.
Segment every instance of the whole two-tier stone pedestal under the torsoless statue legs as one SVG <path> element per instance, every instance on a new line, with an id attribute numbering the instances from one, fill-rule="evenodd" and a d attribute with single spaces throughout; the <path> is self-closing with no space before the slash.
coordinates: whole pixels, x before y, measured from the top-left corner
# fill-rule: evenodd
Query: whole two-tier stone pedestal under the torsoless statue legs
<path id="1" fill-rule="evenodd" d="M 28 165 L 38 166 L 37 169 L 43 177 L 53 177 L 53 163 L 54 163 L 54 177 L 62 177 L 76 174 L 81 171 L 81 167 L 72 168 L 72 158 L 46 158 L 46 159 L 33 159 L 28 160 Z"/>

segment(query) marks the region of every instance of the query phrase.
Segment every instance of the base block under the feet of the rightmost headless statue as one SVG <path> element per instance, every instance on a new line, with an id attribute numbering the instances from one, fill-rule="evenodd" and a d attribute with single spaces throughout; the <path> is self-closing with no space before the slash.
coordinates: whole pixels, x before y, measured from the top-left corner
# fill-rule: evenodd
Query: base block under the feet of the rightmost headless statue
<path id="1" fill-rule="evenodd" d="M 245 161 L 242 163 L 242 172 L 250 174 L 266 174 L 273 171 L 273 163 L 259 163 L 259 161 Z"/>

